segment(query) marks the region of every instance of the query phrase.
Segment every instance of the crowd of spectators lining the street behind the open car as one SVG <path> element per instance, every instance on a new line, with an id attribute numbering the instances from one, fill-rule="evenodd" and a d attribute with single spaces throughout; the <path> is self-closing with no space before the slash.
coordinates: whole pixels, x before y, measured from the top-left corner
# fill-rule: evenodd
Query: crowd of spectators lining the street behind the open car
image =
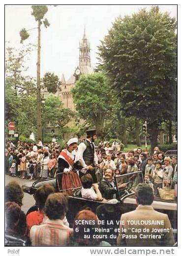
<path id="1" fill-rule="evenodd" d="M 152 155 L 148 151 L 142 151 L 141 148 L 122 153 L 119 146 L 116 141 L 110 146 L 106 140 L 95 148 L 98 164 L 95 166 L 96 179 L 91 173 L 94 183 L 100 183 L 105 170 L 111 169 L 114 175 L 142 171 L 145 181 L 153 185 L 155 196 L 159 196 L 158 188 L 160 187 L 175 187 L 177 156 L 164 157 L 164 152 L 157 146 Z M 59 159 L 60 153 L 61 146 L 56 142 L 43 145 L 40 140 L 37 144 L 18 141 L 15 146 L 11 141 L 7 141 L 6 174 L 30 180 L 54 178 L 58 169 L 60 172 L 64 169 Z"/>

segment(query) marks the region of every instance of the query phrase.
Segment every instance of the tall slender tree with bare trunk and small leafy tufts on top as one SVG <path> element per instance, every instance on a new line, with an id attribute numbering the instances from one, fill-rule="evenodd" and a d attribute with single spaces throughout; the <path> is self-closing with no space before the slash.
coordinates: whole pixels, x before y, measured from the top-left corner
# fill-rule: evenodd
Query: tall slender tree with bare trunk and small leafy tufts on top
<path id="1" fill-rule="evenodd" d="M 35 21 L 38 22 L 38 47 L 37 47 L 37 88 L 36 88 L 36 99 L 37 99 L 37 138 L 42 140 L 42 123 L 41 123 L 41 95 L 40 95 L 40 27 L 42 24 L 42 19 L 48 11 L 46 5 L 32 5 L 31 15 L 34 16 Z M 43 21 L 44 27 L 47 28 L 50 24 L 47 19 Z M 20 31 L 21 43 L 29 37 L 26 29 Z"/>

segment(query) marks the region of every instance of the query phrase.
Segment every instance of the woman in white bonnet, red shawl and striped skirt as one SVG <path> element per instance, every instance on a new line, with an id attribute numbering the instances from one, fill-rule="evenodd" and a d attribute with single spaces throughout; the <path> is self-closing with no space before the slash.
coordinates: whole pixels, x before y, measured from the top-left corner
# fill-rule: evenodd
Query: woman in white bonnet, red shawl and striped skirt
<path id="1" fill-rule="evenodd" d="M 57 189 L 66 189 L 69 195 L 72 195 L 72 188 L 82 186 L 78 174 L 72 171 L 74 164 L 79 160 L 76 152 L 77 147 L 78 139 L 71 138 L 67 142 L 67 147 L 58 156 Z M 58 176 L 59 173 L 62 175 Z"/>

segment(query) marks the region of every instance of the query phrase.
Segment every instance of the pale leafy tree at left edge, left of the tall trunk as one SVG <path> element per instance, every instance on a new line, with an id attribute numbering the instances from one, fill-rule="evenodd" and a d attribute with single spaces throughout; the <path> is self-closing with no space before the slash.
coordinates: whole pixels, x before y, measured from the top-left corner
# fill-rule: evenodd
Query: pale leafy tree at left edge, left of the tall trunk
<path id="1" fill-rule="evenodd" d="M 10 121 L 15 122 L 16 132 L 24 136 L 30 136 L 35 124 L 34 116 L 36 101 L 35 81 L 30 76 L 23 75 L 27 71 L 26 58 L 33 46 L 28 44 L 21 49 L 15 49 L 8 45 L 5 51 L 5 118 L 6 125 Z M 32 108 L 33 106 L 33 108 Z"/>

